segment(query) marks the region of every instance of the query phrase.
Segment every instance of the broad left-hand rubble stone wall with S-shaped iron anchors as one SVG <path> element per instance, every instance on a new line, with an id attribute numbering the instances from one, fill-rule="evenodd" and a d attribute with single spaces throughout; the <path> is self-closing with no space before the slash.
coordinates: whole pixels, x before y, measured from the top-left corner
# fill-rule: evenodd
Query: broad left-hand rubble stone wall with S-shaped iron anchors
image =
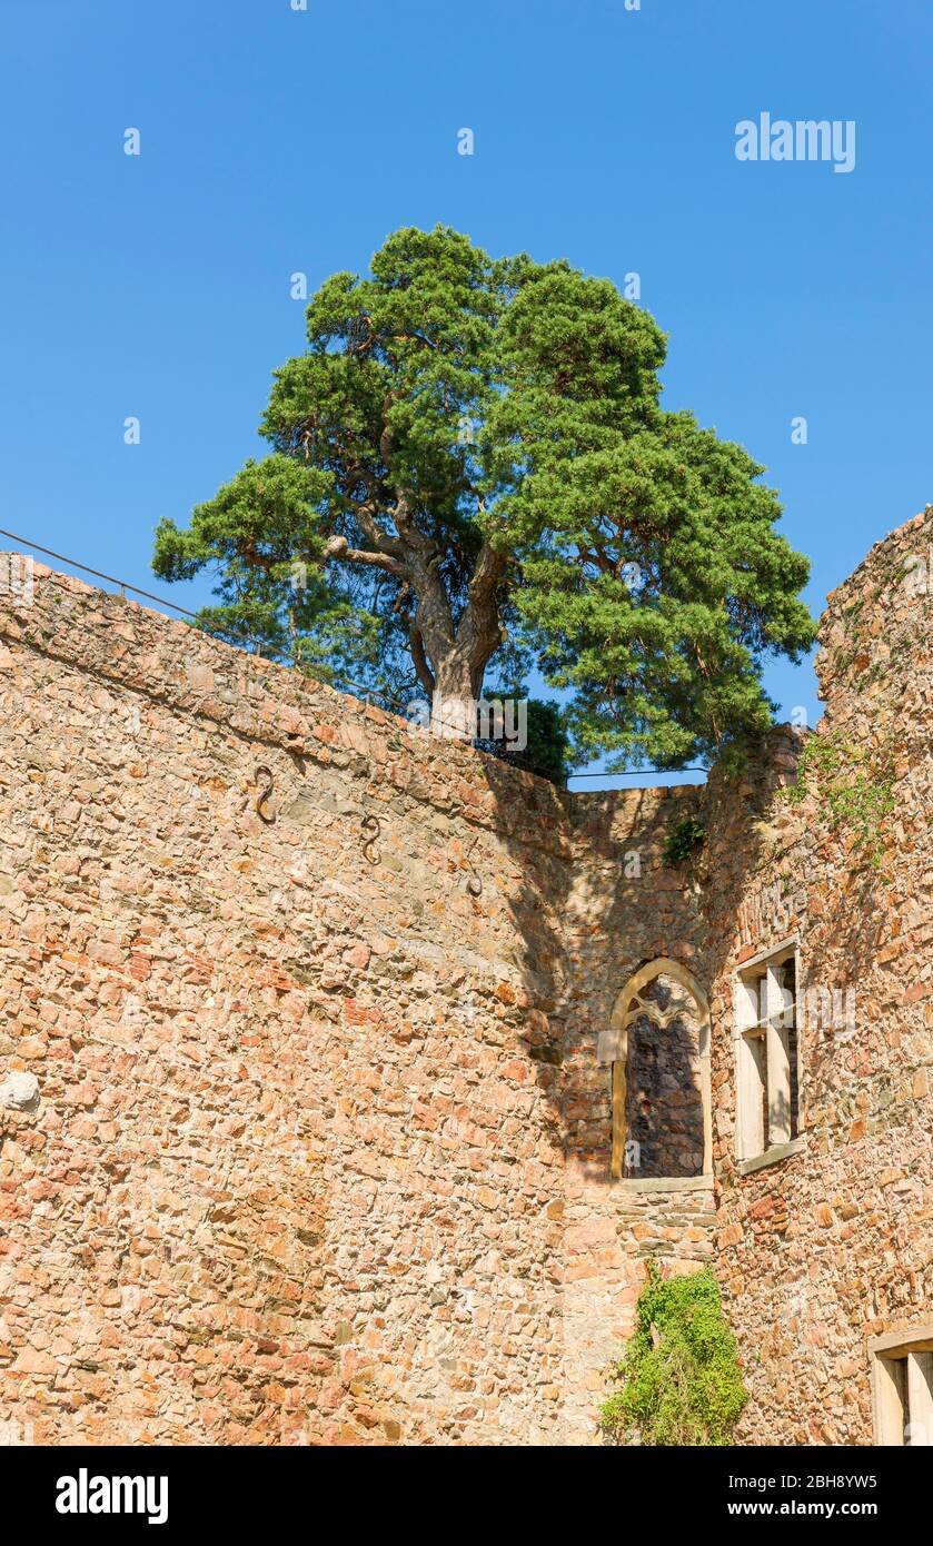
<path id="1" fill-rule="evenodd" d="M 0 631 L 0 1418 L 556 1433 L 561 798 L 74 580 Z"/>

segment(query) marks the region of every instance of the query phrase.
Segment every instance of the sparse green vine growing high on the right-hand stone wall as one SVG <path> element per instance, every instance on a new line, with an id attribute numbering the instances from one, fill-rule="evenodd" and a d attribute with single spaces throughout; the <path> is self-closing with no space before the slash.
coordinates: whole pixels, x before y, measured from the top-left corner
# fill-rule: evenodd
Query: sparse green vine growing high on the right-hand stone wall
<path id="1" fill-rule="evenodd" d="M 851 833 L 856 850 L 880 869 L 885 822 L 897 809 L 890 744 L 874 758 L 839 736 L 809 736 L 797 764 L 788 799 L 799 805 L 817 785 L 820 805 L 834 832 Z"/>

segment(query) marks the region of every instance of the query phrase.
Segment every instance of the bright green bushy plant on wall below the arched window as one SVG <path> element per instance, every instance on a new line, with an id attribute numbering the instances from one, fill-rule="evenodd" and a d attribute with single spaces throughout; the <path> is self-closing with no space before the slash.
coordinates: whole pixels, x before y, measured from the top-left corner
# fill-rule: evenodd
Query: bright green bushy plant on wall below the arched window
<path id="1" fill-rule="evenodd" d="M 721 1446 L 748 1399 L 735 1337 L 709 1268 L 663 1277 L 649 1262 L 636 1328 L 599 1410 L 610 1444 Z"/>

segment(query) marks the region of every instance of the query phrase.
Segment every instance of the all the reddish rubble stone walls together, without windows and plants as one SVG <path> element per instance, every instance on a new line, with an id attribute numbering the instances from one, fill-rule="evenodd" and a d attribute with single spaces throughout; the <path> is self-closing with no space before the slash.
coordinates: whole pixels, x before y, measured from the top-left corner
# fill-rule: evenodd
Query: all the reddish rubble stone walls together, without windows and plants
<path id="1" fill-rule="evenodd" d="M 593 1442 L 658 1257 L 717 1263 L 745 1441 L 870 1442 L 867 1339 L 933 1297 L 931 536 L 823 623 L 879 869 L 785 802 L 786 730 L 741 782 L 570 796 L 76 580 L 2 597 L 0 1419 Z M 740 1173 L 734 974 L 789 937 L 857 1030 L 800 1033 L 800 1146 Z M 609 1175 L 596 1044 L 661 957 L 711 1000 L 715 1183 Z"/>

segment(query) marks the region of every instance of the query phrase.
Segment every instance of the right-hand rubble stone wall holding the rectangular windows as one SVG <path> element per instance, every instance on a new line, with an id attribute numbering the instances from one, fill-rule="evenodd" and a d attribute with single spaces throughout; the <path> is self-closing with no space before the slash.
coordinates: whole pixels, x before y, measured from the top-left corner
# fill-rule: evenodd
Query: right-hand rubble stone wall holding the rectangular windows
<path id="1" fill-rule="evenodd" d="M 782 799 L 789 745 L 772 798 L 738 792 L 751 829 L 737 792 L 704 793 L 717 1263 L 752 1394 L 745 1442 L 870 1444 L 868 1339 L 933 1323 L 933 587 L 905 583 L 931 550 L 927 509 L 833 592 L 820 628 L 819 734 L 867 787 L 891 781 L 877 867 L 833 821 L 831 776 L 799 809 Z M 791 937 L 799 988 L 853 989 L 854 1028 L 806 1016 L 802 1149 L 740 1175 L 734 969 Z"/>

